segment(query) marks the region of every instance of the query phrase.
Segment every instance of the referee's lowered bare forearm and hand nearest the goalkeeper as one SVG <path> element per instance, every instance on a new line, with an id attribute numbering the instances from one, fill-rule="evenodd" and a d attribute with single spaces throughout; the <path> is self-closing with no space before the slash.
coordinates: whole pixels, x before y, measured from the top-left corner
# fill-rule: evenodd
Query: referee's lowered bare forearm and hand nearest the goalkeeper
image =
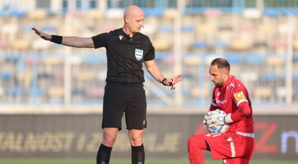
<path id="1" fill-rule="evenodd" d="M 171 86 L 175 85 L 177 82 L 182 80 L 182 76 L 179 74 L 173 78 L 164 78 L 164 76 L 159 71 L 158 67 L 155 64 L 154 59 L 150 61 L 145 61 L 145 66 L 149 74 L 157 81 L 163 85 Z"/>

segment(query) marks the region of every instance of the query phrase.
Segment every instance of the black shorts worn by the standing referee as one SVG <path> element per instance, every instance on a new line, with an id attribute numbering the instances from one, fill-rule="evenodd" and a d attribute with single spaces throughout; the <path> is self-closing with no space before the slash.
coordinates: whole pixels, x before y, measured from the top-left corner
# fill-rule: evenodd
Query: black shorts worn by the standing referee
<path id="1" fill-rule="evenodd" d="M 147 102 L 143 83 L 107 83 L 103 96 L 102 128 L 121 127 L 125 112 L 126 129 L 147 128 Z"/>

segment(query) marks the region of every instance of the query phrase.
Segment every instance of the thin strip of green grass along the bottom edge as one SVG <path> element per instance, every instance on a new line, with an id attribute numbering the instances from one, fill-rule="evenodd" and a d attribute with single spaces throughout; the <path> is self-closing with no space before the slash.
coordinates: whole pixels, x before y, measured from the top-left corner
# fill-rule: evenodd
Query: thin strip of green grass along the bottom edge
<path id="1" fill-rule="evenodd" d="M 223 164 L 222 160 L 206 160 L 206 164 Z M 94 159 L 0 159 L 0 164 L 96 164 Z M 110 164 L 131 164 L 129 159 L 111 159 Z M 188 159 L 147 159 L 146 164 L 189 164 Z M 297 161 L 251 160 L 250 164 L 298 164 Z"/>

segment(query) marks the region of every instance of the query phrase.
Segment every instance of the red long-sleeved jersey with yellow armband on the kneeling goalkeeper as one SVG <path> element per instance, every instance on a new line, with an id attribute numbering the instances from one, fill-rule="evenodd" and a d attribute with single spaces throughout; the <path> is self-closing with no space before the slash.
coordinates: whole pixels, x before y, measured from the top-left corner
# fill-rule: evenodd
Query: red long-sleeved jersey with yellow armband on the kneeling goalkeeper
<path id="1" fill-rule="evenodd" d="M 230 123 L 227 132 L 254 133 L 252 107 L 247 89 L 243 83 L 238 81 L 234 76 L 230 76 L 229 79 L 224 82 L 223 86 L 216 86 L 214 88 L 210 110 L 220 109 L 226 114 L 233 114 L 235 111 L 241 110 L 238 109 L 238 106 L 244 102 L 248 102 L 245 104 L 248 104 L 246 109 L 250 110 L 250 114 Z M 233 117 L 231 118 L 233 119 Z"/>

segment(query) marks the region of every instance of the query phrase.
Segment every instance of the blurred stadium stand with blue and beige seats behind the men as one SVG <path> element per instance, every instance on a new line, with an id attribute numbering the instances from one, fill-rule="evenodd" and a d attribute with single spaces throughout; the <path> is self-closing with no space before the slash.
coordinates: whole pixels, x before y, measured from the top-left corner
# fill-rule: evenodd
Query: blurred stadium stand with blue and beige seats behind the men
<path id="1" fill-rule="evenodd" d="M 298 102 L 298 0 L 0 0 L 0 103 L 101 104 L 105 49 L 67 48 L 34 34 L 91 37 L 123 25 L 130 4 L 175 91 L 145 71 L 148 103 L 208 105 L 210 62 L 224 57 L 254 104 Z"/>

